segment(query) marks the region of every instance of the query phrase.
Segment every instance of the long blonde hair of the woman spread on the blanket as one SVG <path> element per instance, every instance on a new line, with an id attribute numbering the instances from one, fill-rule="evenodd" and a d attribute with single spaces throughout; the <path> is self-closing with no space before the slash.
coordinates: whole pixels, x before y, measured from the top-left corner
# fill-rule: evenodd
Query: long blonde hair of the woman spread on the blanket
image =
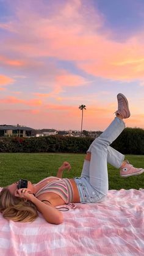
<path id="1" fill-rule="evenodd" d="M 0 192 L 0 212 L 5 219 L 20 222 L 32 222 L 38 216 L 34 203 L 13 196 L 8 188 Z"/>

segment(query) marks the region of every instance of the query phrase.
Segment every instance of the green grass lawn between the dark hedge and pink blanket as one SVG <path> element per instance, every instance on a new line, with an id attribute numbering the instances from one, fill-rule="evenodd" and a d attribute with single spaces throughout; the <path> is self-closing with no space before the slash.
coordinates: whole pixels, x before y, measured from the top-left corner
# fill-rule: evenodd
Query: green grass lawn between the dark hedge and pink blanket
<path id="1" fill-rule="evenodd" d="M 63 161 L 71 164 L 70 172 L 63 172 L 63 177 L 74 178 L 81 175 L 84 154 L 71 153 L 1 153 L 0 186 L 6 186 L 20 178 L 37 183 L 48 176 L 56 176 L 57 169 Z M 135 167 L 144 167 L 144 156 L 127 155 L 126 159 Z M 109 189 L 143 188 L 142 175 L 121 178 L 119 170 L 108 165 Z"/>

